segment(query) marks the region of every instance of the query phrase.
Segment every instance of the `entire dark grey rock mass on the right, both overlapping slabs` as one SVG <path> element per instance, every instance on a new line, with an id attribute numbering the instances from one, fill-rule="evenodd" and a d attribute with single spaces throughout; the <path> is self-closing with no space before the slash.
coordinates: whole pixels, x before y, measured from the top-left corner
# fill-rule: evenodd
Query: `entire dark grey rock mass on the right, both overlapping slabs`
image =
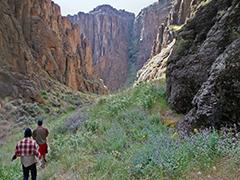
<path id="1" fill-rule="evenodd" d="M 187 114 L 179 125 L 238 121 L 240 3 L 208 1 L 179 32 L 167 66 L 167 94 Z"/>

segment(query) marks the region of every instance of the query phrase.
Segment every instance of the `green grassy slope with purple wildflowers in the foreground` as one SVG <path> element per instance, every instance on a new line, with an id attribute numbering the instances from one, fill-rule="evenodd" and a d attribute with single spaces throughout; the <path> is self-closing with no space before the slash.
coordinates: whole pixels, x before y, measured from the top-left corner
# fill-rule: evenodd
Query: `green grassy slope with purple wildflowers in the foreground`
<path id="1" fill-rule="evenodd" d="M 48 123 L 49 164 L 39 179 L 237 178 L 238 141 L 233 146 L 232 136 L 214 130 L 179 139 L 166 126 L 178 116 L 168 108 L 164 86 L 142 84 L 99 98 L 77 131 L 65 127 L 66 116 Z M 13 143 L 8 146 L 6 156 Z M 16 176 L 18 167 L 5 169 L 15 168 Z"/>

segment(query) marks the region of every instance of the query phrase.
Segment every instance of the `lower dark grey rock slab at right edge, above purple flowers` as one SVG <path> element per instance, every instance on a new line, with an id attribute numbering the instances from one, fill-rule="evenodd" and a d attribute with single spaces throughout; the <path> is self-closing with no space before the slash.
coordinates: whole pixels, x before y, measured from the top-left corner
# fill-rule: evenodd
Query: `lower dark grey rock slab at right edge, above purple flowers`
<path id="1" fill-rule="evenodd" d="M 193 109 L 186 115 L 181 130 L 236 124 L 240 116 L 240 38 L 216 59 L 210 76 L 193 99 Z"/>

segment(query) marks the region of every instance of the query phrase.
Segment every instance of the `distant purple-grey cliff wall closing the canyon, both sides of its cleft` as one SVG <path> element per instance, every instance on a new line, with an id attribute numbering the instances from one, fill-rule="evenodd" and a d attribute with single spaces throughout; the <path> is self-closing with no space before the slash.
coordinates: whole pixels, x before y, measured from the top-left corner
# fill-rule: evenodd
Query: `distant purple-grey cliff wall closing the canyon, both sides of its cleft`
<path id="1" fill-rule="evenodd" d="M 158 27 L 164 23 L 171 1 L 161 0 L 133 13 L 102 5 L 89 13 L 68 16 L 90 42 L 94 73 L 111 90 L 124 85 L 129 64 L 139 70 L 151 55 Z"/>

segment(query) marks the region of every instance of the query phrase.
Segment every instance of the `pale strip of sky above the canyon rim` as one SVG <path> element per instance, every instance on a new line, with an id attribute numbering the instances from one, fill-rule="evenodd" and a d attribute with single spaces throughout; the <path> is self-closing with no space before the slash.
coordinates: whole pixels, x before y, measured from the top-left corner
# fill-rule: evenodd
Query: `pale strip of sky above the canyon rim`
<path id="1" fill-rule="evenodd" d="M 53 0 L 60 5 L 62 15 L 77 14 L 79 11 L 89 12 L 98 5 L 109 4 L 116 9 L 125 9 L 136 15 L 144 7 L 157 0 Z"/>

